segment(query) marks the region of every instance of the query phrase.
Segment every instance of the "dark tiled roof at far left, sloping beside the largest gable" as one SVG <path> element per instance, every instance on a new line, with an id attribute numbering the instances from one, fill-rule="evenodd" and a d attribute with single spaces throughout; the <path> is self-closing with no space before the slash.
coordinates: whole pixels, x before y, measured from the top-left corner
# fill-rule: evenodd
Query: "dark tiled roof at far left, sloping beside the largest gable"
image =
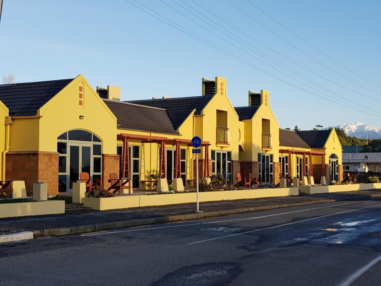
<path id="1" fill-rule="evenodd" d="M 0 100 L 10 116 L 34 116 L 37 110 L 73 79 L 0 85 Z"/>

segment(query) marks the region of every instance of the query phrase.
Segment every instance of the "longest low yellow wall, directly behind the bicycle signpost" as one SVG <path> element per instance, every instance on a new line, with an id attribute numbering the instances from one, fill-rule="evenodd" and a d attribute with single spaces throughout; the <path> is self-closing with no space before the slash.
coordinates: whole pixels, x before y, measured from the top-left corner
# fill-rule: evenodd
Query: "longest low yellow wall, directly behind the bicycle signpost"
<path id="1" fill-rule="evenodd" d="M 298 196 L 298 188 L 269 188 L 235 191 L 214 191 L 199 193 L 200 202 L 225 201 L 235 199 L 255 199 L 279 196 Z M 196 193 L 156 194 L 141 196 L 123 196 L 114 198 L 83 198 L 85 207 L 96 210 L 125 209 L 129 207 L 164 206 L 196 202 Z"/>

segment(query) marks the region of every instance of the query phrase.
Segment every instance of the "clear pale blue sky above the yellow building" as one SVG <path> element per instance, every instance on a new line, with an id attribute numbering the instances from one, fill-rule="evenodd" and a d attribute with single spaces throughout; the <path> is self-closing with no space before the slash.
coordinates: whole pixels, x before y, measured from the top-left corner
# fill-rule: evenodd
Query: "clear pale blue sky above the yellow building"
<path id="1" fill-rule="evenodd" d="M 129 1 L 136 4 L 133 0 Z M 182 10 L 171 0 L 163 1 L 260 58 L 247 47 Z M 180 0 L 174 1 L 185 6 Z M 230 1 L 296 47 L 380 95 L 363 90 L 315 63 L 225 0 L 195 2 L 278 53 L 356 93 L 295 66 L 223 24 L 191 0 L 184 1 L 303 76 L 350 100 L 381 111 L 381 102 L 357 94 L 363 93 L 381 100 L 380 88 L 325 58 L 247 0 Z M 251 1 L 339 63 L 381 86 L 380 1 Z M 311 90 L 210 34 L 160 1 L 139 2 L 245 61 Z M 214 79 L 215 76 L 221 76 L 227 79 L 227 94 L 234 106 L 247 105 L 248 90 L 269 90 L 270 105 L 280 127 L 292 128 L 297 124 L 301 128 L 310 129 L 316 124 L 328 126 L 358 121 L 381 125 L 380 117 L 337 106 L 280 82 L 182 34 L 123 0 L 3 0 L 0 76 L 9 73 L 16 77 L 17 82 L 64 79 L 82 73 L 94 88 L 96 85 L 120 86 L 122 100 L 201 95 L 202 77 Z M 311 92 L 317 93 L 314 90 Z M 327 97 L 321 93 L 319 95 Z M 345 102 L 343 99 L 332 100 Z M 356 106 L 353 103 L 351 105 Z"/>

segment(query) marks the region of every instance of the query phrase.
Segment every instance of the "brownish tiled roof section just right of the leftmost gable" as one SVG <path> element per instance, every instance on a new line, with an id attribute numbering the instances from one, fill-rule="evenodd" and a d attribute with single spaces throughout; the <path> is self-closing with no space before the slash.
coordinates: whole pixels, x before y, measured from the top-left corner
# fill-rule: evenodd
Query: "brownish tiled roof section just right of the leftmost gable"
<path id="1" fill-rule="evenodd" d="M 118 119 L 118 128 L 177 134 L 165 109 L 105 100 Z"/>

